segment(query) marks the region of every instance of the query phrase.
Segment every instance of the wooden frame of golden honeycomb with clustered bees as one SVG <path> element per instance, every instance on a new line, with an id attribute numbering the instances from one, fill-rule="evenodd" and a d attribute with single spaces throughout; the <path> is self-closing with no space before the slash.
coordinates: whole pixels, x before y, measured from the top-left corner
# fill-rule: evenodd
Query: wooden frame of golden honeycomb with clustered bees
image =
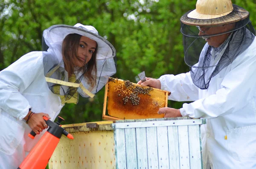
<path id="1" fill-rule="evenodd" d="M 163 118 L 157 112 L 167 107 L 168 95 L 170 92 L 110 77 L 105 86 L 102 119 Z"/>

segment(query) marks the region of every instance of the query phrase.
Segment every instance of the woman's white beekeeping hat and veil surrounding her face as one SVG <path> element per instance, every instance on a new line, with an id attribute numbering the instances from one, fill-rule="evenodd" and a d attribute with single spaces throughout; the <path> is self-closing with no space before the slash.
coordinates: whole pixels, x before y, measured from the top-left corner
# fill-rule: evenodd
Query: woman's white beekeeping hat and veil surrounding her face
<path id="1" fill-rule="evenodd" d="M 64 69 L 62 58 L 62 42 L 68 34 L 80 34 L 95 40 L 96 49 L 96 77 L 95 86 L 86 79 L 84 74 L 88 73 L 87 64 L 83 69 L 74 68 L 71 76 Z M 75 26 L 55 25 L 46 29 L 42 38 L 44 75 L 49 89 L 59 95 L 62 103 L 77 103 L 79 95 L 93 97 L 102 89 L 108 78 L 116 73 L 116 51 L 105 38 L 98 35 L 92 26 L 76 24 Z M 90 62 L 90 61 L 89 61 Z"/>

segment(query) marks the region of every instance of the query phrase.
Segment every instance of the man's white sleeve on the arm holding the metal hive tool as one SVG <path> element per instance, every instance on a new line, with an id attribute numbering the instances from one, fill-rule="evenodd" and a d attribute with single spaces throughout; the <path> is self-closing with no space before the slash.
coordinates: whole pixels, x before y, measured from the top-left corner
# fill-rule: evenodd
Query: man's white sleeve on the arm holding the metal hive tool
<path id="1" fill-rule="evenodd" d="M 198 100 L 198 87 L 192 82 L 190 72 L 166 74 L 159 78 L 161 89 L 171 92 L 169 100 L 194 101 Z"/>

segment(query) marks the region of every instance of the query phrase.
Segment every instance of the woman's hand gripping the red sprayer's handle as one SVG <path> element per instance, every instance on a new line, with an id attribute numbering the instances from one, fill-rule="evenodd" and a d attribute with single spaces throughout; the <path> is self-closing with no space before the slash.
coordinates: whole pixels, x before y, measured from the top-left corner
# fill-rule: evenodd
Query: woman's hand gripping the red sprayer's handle
<path id="1" fill-rule="evenodd" d="M 48 114 L 46 113 L 35 113 L 33 114 L 29 120 L 27 121 L 29 127 L 35 132 L 35 134 L 40 134 L 40 132 L 43 131 L 43 129 L 47 129 L 48 125 L 44 121 L 43 117 L 51 118 Z"/>

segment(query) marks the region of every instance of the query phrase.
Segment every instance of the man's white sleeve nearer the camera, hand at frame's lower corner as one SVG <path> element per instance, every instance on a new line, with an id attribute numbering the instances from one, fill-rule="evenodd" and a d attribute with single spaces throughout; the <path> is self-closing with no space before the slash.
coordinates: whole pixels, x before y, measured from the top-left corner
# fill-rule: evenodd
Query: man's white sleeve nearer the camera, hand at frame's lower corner
<path id="1" fill-rule="evenodd" d="M 247 53 L 246 53 L 247 52 Z M 256 49 L 237 57 L 216 94 L 183 104 L 185 116 L 214 118 L 241 110 L 256 94 Z"/>

